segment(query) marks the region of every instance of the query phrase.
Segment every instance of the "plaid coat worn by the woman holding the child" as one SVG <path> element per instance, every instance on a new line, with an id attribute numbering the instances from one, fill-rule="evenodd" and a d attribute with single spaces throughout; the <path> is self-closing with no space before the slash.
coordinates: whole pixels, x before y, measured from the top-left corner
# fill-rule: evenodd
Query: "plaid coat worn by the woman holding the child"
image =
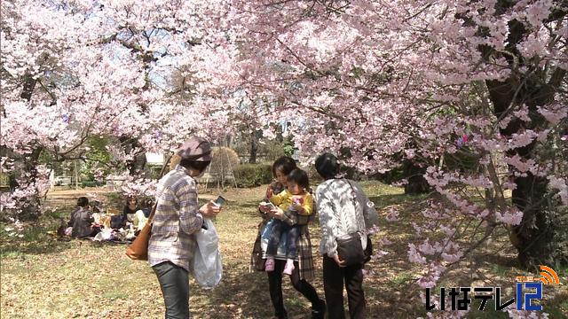
<path id="1" fill-rule="evenodd" d="M 275 186 L 279 186 L 280 191 L 283 189 L 282 185 L 280 184 L 273 185 L 272 187 L 275 189 L 275 192 L 278 191 L 278 188 Z M 253 246 L 253 251 L 250 258 L 250 267 L 248 268 L 250 272 L 253 272 L 255 270 L 263 271 L 264 261 L 262 260 L 266 259 L 266 254 L 262 251 L 262 248 L 260 246 L 260 236 L 262 230 L 264 229 L 264 226 L 268 221 L 270 221 L 271 218 L 266 214 L 263 214 L 262 212 L 260 214 L 263 217 L 263 222 L 258 225 L 258 234 L 256 235 L 255 245 Z M 293 214 L 284 214 L 282 221 L 287 222 L 288 224 L 294 224 L 295 222 L 291 219 L 292 216 Z M 297 250 L 299 265 L 298 270 L 300 272 L 300 278 L 308 281 L 312 280 L 312 278 L 315 276 L 315 271 L 313 268 L 312 241 L 310 240 L 310 232 L 308 230 L 307 224 L 301 227 L 300 237 L 298 237 Z M 279 256 L 276 256 L 275 258 L 280 259 Z M 282 259 L 286 260 L 286 257 L 282 257 Z"/>

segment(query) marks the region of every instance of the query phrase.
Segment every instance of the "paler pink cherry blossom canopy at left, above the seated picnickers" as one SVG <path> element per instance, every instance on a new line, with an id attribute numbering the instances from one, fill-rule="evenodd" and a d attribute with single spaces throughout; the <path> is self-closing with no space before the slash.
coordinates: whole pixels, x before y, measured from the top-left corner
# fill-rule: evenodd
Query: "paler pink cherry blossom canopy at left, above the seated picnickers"
<path id="1" fill-rule="evenodd" d="M 112 164 L 128 167 L 136 183 L 144 152 L 169 152 L 190 134 L 225 134 L 217 79 L 230 79 L 233 49 L 219 26 L 224 6 L 3 2 L 2 165 L 17 186 L 2 194 L 4 212 L 41 213 L 42 153 L 88 160 L 85 142 L 104 136 L 115 142 Z M 177 98 L 169 81 L 177 70 L 192 79 L 189 97 Z"/>

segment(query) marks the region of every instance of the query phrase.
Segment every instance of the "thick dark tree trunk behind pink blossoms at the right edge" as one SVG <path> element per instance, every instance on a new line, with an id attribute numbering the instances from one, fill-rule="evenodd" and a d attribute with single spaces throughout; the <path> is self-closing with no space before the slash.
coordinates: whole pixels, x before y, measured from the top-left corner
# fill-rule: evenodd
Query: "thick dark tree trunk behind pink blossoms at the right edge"
<path id="1" fill-rule="evenodd" d="M 496 14 L 501 14 L 514 4 L 515 2 L 498 1 Z M 507 39 L 509 54 L 502 57 L 509 61 L 513 69 L 525 66 L 533 72 L 525 74 L 512 72 L 509 78 L 502 82 L 485 82 L 489 89 L 489 98 L 493 103 L 493 113 L 498 119 L 516 111 L 521 105 L 526 105 L 529 109 L 531 121 L 525 122 L 513 117 L 506 128 L 500 128 L 500 133 L 505 138 L 510 138 L 525 129 L 540 130 L 546 127 L 547 122 L 538 112 L 538 106 L 547 105 L 554 100 L 556 90 L 564 82 L 566 73 L 564 69 L 554 66 L 547 66 L 549 70 L 545 71 L 542 66 L 533 65 L 532 60 L 525 60 L 519 53 L 517 44 L 525 39 L 526 33 L 523 23 L 511 20 Z M 488 59 L 501 55 L 490 47 L 480 46 L 479 49 Z M 525 147 L 509 150 L 507 155 L 518 155 L 523 160 L 534 159 L 538 162 L 541 152 L 543 150 L 533 142 Z M 511 175 L 515 171 L 515 167 L 509 166 Z M 517 189 L 513 191 L 512 203 L 523 212 L 523 220 L 520 225 L 513 228 L 511 242 L 517 247 L 521 264 L 525 268 L 538 268 L 539 265 L 555 265 L 568 261 L 568 251 L 562 248 L 568 243 L 566 236 L 563 237 L 566 231 L 561 221 L 565 213 L 564 216 L 556 214 L 555 209 L 560 208 L 548 198 L 547 178 L 527 172 L 526 176 L 515 175 L 514 182 L 517 183 Z"/>

